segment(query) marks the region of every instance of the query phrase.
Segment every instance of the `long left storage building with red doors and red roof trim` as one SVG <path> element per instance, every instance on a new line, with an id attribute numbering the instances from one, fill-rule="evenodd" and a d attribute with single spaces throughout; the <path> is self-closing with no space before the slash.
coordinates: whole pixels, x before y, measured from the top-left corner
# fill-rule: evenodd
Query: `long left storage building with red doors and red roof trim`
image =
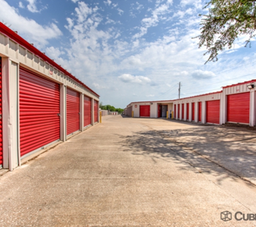
<path id="1" fill-rule="evenodd" d="M 98 122 L 99 95 L 0 23 L 0 168 Z"/>

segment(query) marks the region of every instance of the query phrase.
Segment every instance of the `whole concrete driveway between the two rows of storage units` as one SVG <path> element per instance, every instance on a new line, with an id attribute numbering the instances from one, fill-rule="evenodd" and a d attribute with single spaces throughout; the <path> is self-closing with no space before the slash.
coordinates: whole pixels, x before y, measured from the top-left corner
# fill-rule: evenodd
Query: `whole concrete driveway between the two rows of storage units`
<path id="1" fill-rule="evenodd" d="M 254 180 L 254 139 L 245 129 L 103 117 L 1 176 L 0 225 L 255 226 L 234 218 L 256 213 L 256 188 L 238 174 Z"/>

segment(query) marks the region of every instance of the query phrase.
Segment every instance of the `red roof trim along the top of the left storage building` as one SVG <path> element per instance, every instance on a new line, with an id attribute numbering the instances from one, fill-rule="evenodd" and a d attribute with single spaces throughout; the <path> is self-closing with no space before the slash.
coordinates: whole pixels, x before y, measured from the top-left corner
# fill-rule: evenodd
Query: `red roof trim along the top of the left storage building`
<path id="1" fill-rule="evenodd" d="M 0 32 L 3 33 L 5 36 L 9 37 L 13 41 L 17 42 L 20 46 L 25 47 L 33 54 L 36 54 L 39 56 L 39 58 L 43 59 L 44 61 L 48 62 L 53 67 L 59 69 L 61 72 L 63 72 L 65 75 L 71 77 L 74 81 L 77 81 L 80 83 L 83 87 L 85 87 L 87 90 L 91 91 L 94 95 L 100 97 L 95 91 L 93 91 L 91 88 L 86 86 L 83 82 L 78 80 L 76 77 L 74 77 L 71 73 L 68 73 L 64 68 L 59 66 L 56 62 L 54 62 L 52 59 L 47 57 L 44 53 L 40 52 L 36 47 L 32 46 L 29 42 L 27 42 L 25 39 L 20 37 L 17 33 L 13 32 L 9 27 L 5 26 L 3 23 L 0 22 Z"/>

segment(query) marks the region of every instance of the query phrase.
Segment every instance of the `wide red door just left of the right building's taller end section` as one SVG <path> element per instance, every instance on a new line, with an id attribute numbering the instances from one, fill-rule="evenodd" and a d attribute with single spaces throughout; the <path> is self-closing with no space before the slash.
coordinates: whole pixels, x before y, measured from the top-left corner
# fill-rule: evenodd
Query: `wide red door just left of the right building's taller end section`
<path id="1" fill-rule="evenodd" d="M 220 110 L 220 101 L 207 101 L 206 102 L 206 122 L 219 124 L 219 110 Z"/>

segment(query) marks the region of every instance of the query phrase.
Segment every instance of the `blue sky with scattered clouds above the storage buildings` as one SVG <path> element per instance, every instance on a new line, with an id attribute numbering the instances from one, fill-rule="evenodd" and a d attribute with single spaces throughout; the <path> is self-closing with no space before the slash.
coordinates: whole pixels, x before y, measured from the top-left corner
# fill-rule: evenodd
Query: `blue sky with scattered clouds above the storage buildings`
<path id="1" fill-rule="evenodd" d="M 256 79 L 255 42 L 218 62 L 198 49 L 200 0 L 0 0 L 0 20 L 96 91 L 103 104 L 171 100 Z"/>

